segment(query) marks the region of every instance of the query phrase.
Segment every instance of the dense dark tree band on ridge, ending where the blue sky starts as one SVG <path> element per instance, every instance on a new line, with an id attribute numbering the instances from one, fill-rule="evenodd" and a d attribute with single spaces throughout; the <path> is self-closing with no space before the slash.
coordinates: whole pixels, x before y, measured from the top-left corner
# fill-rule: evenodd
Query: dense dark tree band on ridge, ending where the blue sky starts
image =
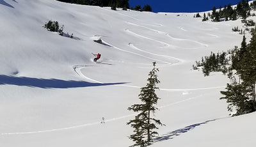
<path id="1" fill-rule="evenodd" d="M 129 0 L 57 0 L 65 3 L 74 4 L 86 4 L 92 6 L 111 6 L 111 9 L 123 8 L 127 10 L 129 8 Z"/>

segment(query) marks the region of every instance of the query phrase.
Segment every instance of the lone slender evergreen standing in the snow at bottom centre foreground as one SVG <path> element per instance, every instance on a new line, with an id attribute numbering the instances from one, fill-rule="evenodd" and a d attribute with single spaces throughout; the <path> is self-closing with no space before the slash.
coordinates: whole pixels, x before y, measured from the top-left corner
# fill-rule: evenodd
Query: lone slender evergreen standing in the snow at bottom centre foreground
<path id="1" fill-rule="evenodd" d="M 129 111 L 138 112 L 134 120 L 130 120 L 127 125 L 131 125 L 134 128 L 134 134 L 130 135 L 129 139 L 135 142 L 132 146 L 145 147 L 152 143 L 152 138 L 156 137 L 158 129 L 156 125 L 163 125 L 160 120 L 152 118 L 151 114 L 156 112 L 159 97 L 156 95 L 156 84 L 159 84 L 157 79 L 158 68 L 156 68 L 156 62 L 153 63 L 154 68 L 149 72 L 147 79 L 147 86 L 141 88 L 139 98 L 143 104 L 134 104 L 128 108 Z"/>

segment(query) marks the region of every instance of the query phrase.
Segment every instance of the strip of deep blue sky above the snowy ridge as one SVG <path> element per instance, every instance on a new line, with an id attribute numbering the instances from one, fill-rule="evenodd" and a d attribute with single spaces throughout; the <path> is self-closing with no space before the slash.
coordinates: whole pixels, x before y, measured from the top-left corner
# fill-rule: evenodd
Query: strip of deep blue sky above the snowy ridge
<path id="1" fill-rule="evenodd" d="M 152 12 L 205 12 L 212 10 L 213 6 L 237 4 L 241 0 L 129 0 L 130 7 L 149 4 Z"/>

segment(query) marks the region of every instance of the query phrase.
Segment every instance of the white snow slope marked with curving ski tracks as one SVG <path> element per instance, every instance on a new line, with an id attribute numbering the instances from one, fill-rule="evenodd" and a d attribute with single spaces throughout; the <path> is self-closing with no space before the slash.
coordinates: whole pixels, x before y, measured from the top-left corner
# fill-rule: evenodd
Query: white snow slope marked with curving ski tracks
<path id="1" fill-rule="evenodd" d="M 155 118 L 165 126 L 152 147 L 255 146 L 256 114 L 230 117 L 219 100 L 227 77 L 191 70 L 211 51 L 239 46 L 232 28 L 241 20 L 193 15 L 0 0 L 0 146 L 131 146 L 126 123 L 136 114 L 127 108 L 140 103 L 154 61 Z M 76 39 L 47 31 L 49 20 Z M 92 52 L 102 54 L 97 63 Z"/>

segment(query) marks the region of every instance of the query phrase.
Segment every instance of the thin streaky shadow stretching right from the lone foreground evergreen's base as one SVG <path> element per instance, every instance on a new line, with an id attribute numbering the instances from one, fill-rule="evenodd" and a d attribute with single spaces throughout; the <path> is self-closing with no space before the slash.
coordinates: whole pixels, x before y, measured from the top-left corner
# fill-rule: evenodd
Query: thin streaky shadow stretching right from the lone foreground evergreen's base
<path id="1" fill-rule="evenodd" d="M 216 121 L 216 120 L 219 120 L 219 119 L 208 120 L 208 121 L 205 121 L 203 123 L 195 123 L 193 125 L 189 125 L 189 126 L 184 127 L 184 128 L 179 128 L 179 129 L 174 130 L 172 132 L 168 132 L 167 134 L 161 135 L 160 137 L 156 137 L 154 139 L 154 142 L 166 141 L 166 140 L 169 140 L 169 139 L 173 139 L 174 137 L 176 137 L 178 135 L 181 135 L 181 134 L 184 134 L 186 132 L 189 132 L 190 130 L 193 130 L 194 128 L 199 127 L 200 125 L 204 125 L 206 123 L 209 123 L 211 121 Z"/>

